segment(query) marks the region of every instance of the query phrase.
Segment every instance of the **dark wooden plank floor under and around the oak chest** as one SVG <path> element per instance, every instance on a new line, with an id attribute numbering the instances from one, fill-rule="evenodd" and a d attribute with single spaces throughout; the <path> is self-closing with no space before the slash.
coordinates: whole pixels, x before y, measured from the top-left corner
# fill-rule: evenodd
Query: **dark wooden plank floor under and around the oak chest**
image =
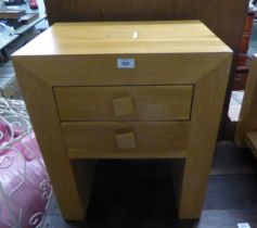
<path id="1" fill-rule="evenodd" d="M 257 165 L 248 150 L 219 142 L 200 220 L 177 217 L 171 161 L 100 161 L 87 219 L 63 220 L 53 200 L 43 228 L 257 228 Z"/>

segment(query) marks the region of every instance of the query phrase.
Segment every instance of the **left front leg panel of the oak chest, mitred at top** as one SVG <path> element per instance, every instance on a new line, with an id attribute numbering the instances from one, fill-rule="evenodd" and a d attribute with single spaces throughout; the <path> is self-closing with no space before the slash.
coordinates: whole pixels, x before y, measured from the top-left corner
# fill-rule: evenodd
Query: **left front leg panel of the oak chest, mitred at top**
<path id="1" fill-rule="evenodd" d="M 66 153 L 52 88 L 20 61 L 14 61 L 14 67 L 62 214 L 69 220 L 82 219 L 86 207 Z"/>

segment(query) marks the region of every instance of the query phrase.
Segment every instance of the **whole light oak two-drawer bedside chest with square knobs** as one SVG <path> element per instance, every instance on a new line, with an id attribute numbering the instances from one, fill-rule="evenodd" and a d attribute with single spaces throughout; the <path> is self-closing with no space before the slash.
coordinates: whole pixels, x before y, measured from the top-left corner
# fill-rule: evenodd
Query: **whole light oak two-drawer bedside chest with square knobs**
<path id="1" fill-rule="evenodd" d="M 179 216 L 200 217 L 231 56 L 198 21 L 60 23 L 18 50 L 15 72 L 63 216 L 85 218 L 93 167 L 79 160 L 181 159 Z"/>

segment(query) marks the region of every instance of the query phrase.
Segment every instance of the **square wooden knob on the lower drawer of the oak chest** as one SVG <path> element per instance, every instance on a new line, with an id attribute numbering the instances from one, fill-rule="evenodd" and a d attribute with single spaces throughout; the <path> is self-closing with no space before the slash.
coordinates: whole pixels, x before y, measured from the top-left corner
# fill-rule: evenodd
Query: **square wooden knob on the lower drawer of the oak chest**
<path id="1" fill-rule="evenodd" d="M 137 141 L 133 132 L 116 134 L 115 139 L 119 150 L 131 150 L 137 148 Z"/>

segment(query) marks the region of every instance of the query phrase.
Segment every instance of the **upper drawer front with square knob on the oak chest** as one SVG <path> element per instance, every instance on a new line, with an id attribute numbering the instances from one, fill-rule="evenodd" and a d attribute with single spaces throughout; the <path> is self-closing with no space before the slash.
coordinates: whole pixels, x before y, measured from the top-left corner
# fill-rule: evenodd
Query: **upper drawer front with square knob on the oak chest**
<path id="1" fill-rule="evenodd" d="M 61 121 L 190 119 L 193 86 L 56 87 Z"/>

